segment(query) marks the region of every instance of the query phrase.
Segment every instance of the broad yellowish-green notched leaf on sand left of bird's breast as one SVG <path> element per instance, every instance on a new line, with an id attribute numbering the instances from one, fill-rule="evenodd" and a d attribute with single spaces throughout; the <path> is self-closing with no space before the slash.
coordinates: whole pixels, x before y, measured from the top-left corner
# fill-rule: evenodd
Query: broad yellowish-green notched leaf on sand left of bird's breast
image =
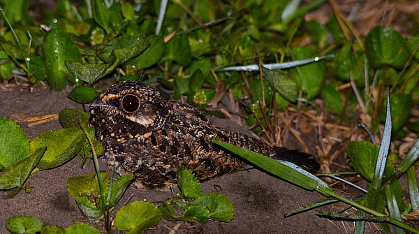
<path id="1" fill-rule="evenodd" d="M 82 149 L 86 136 L 80 129 L 60 129 L 45 131 L 32 140 L 31 152 L 46 147 L 45 155 L 38 163 L 39 170 L 46 170 L 60 166 Z"/>

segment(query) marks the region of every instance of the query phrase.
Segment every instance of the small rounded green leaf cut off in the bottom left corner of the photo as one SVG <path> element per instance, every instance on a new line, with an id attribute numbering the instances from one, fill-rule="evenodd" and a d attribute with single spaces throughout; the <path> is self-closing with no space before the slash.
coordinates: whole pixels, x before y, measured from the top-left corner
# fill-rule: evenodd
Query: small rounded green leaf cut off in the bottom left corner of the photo
<path id="1" fill-rule="evenodd" d="M 41 231 L 41 219 L 31 216 L 11 217 L 6 221 L 6 228 L 11 233 L 35 234 Z"/>

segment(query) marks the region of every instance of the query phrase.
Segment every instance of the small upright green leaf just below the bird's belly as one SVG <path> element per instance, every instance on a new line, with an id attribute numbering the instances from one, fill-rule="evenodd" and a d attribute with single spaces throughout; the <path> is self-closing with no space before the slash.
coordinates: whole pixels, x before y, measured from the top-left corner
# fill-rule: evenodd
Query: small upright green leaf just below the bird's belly
<path id="1" fill-rule="evenodd" d="M 177 185 L 186 198 L 196 199 L 203 194 L 198 179 L 184 165 L 177 168 Z"/>

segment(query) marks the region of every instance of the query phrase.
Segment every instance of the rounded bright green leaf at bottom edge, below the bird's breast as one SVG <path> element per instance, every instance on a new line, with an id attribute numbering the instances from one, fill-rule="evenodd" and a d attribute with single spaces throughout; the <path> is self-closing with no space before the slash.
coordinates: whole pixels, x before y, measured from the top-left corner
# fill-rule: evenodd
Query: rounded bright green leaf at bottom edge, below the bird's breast
<path id="1" fill-rule="evenodd" d="M 161 219 L 161 211 L 153 204 L 135 201 L 118 210 L 115 227 L 128 233 L 142 233 L 155 226 Z"/>

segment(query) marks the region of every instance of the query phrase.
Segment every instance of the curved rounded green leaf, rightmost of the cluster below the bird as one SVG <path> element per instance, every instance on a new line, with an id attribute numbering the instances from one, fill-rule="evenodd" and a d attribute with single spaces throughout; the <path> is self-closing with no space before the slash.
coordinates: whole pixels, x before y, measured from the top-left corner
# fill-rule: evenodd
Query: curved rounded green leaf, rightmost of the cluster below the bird
<path id="1" fill-rule="evenodd" d="M 234 209 L 231 201 L 220 193 L 209 193 L 200 196 L 193 205 L 203 205 L 210 211 L 208 218 L 215 221 L 228 222 L 234 217 Z"/>

